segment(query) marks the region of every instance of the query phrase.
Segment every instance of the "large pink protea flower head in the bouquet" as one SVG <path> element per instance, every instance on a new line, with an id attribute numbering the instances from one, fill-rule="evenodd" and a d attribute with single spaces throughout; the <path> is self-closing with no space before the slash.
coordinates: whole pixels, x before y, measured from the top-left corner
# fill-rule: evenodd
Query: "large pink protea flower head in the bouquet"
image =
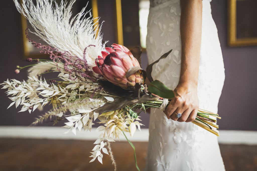
<path id="1" fill-rule="evenodd" d="M 106 47 L 107 52 L 102 51 L 102 56 L 98 56 L 97 66 L 93 67 L 93 71 L 123 89 L 133 90 L 136 83 L 143 84 L 144 78 L 141 71 L 126 77 L 126 73 L 131 67 L 140 67 L 130 50 L 118 44 L 112 44 L 112 47 Z"/>

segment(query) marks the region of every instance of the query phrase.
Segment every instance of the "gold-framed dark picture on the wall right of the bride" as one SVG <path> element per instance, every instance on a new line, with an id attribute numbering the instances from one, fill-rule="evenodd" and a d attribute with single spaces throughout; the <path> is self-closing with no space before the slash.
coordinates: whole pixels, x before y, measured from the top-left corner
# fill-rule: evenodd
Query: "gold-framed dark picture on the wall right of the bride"
<path id="1" fill-rule="evenodd" d="M 256 7 L 256 0 L 228 0 L 228 45 L 257 45 Z"/>

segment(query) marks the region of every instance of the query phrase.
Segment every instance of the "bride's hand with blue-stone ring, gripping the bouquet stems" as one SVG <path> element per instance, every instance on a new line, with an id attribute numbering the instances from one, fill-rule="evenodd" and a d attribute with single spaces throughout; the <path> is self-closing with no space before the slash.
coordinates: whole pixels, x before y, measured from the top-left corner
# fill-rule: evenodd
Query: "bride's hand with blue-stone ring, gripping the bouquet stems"
<path id="1" fill-rule="evenodd" d="M 174 90 L 175 97 L 171 100 L 167 109 L 164 111 L 168 119 L 178 120 L 179 122 L 191 122 L 195 120 L 198 111 L 197 86 L 190 84 L 178 84 Z M 181 113 L 177 118 L 175 112 Z"/>

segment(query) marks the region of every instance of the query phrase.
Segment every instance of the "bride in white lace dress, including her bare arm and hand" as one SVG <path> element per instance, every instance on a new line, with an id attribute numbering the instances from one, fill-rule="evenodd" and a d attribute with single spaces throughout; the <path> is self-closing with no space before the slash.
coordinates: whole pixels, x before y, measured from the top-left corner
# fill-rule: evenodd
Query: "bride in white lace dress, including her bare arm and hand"
<path id="1" fill-rule="evenodd" d="M 217 112 L 225 79 L 210 1 L 150 2 L 149 63 L 173 49 L 153 68 L 153 78 L 173 89 L 176 97 L 164 112 L 151 111 L 146 170 L 225 170 L 216 135 L 187 123 L 198 108 Z"/>

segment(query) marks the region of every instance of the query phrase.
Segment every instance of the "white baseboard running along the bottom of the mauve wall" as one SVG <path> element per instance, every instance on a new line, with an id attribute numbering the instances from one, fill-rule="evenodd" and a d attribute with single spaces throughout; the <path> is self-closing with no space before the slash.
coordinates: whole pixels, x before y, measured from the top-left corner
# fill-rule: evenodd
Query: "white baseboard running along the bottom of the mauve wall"
<path id="1" fill-rule="evenodd" d="M 77 135 L 69 132 L 64 134 L 66 128 L 47 127 L 47 126 L 0 126 L 0 138 L 36 138 L 36 139 L 75 139 L 75 140 L 96 140 L 100 132 L 93 128 L 91 132 L 77 130 Z M 148 142 L 148 129 L 141 129 L 130 137 L 127 137 L 133 142 Z M 240 130 L 219 130 L 220 144 L 247 144 L 257 145 L 257 131 L 240 131 Z M 120 137 L 121 141 L 126 141 L 124 136 Z"/>

